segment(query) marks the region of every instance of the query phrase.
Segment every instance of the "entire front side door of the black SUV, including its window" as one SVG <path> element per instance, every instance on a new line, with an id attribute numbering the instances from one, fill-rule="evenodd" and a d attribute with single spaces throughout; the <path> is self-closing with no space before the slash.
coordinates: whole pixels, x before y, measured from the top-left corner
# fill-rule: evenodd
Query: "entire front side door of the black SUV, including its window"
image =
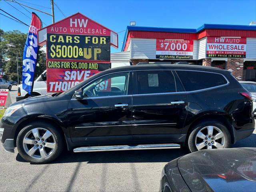
<path id="1" fill-rule="evenodd" d="M 83 89 L 84 99 L 70 100 L 73 142 L 104 144 L 132 139 L 131 82 L 129 72 L 106 76 Z"/>

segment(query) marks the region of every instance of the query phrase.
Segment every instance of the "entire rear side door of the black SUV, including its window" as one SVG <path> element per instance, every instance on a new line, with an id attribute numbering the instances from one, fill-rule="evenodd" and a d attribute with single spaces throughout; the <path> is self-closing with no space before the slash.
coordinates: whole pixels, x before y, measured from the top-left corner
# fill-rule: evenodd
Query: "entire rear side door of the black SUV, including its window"
<path id="1" fill-rule="evenodd" d="M 136 72 L 138 94 L 133 96 L 136 139 L 172 138 L 179 134 L 187 114 L 187 95 L 176 86 L 171 71 Z M 177 87 L 179 92 L 176 92 Z M 158 137 L 156 137 L 158 135 Z"/>

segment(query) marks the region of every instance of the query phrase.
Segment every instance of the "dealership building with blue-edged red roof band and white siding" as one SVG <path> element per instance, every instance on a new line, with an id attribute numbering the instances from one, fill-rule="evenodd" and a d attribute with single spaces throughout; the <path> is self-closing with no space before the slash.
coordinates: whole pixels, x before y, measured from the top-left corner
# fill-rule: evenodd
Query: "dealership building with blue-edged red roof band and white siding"
<path id="1" fill-rule="evenodd" d="M 139 62 L 214 66 L 256 81 L 256 26 L 204 24 L 197 29 L 127 26 L 112 65 Z"/>

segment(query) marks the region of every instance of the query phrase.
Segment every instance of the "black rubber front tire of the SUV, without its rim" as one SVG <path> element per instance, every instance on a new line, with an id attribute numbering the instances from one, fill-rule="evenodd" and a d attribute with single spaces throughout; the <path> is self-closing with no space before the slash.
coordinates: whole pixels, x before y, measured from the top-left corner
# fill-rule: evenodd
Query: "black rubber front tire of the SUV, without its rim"
<path id="1" fill-rule="evenodd" d="M 42 158 L 38 159 L 38 158 L 33 158 L 26 153 L 23 147 L 23 138 L 33 128 L 44 128 L 46 130 L 49 130 L 52 133 L 52 136 L 54 137 L 56 142 L 56 148 L 54 149 L 52 154 L 50 154 L 50 156 L 43 159 Z M 63 135 L 60 133 L 60 131 L 54 128 L 52 124 L 48 124 L 46 122 L 32 122 L 31 124 L 27 125 L 19 132 L 17 137 L 17 148 L 20 156 L 27 162 L 30 162 L 32 164 L 45 164 L 55 160 L 62 153 L 64 148 L 64 138 L 63 138 Z"/>

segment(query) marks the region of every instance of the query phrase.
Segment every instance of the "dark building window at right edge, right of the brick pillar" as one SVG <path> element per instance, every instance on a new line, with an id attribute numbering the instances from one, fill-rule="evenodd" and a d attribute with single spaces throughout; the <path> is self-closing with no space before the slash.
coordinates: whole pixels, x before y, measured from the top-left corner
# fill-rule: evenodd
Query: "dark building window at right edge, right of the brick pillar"
<path id="1" fill-rule="evenodd" d="M 256 81 L 256 61 L 244 62 L 243 80 Z"/>

